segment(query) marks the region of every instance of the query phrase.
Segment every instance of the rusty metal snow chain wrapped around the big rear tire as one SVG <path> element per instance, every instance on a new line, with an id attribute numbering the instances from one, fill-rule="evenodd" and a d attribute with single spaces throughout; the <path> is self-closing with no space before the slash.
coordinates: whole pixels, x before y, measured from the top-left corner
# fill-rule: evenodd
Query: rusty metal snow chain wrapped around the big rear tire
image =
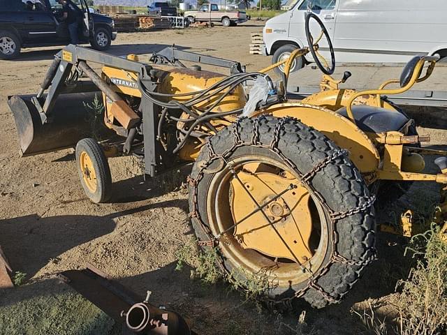
<path id="1" fill-rule="evenodd" d="M 251 137 L 251 142 L 244 142 L 241 140 L 241 137 L 240 137 L 240 131 L 239 131 L 240 123 L 244 119 L 247 119 L 247 117 L 241 117 L 241 118 L 237 119 L 237 121 L 235 121 L 235 124 L 233 126 L 233 135 L 234 135 L 235 142 L 234 142 L 233 146 L 230 147 L 230 149 L 227 149 L 226 151 L 224 151 L 223 154 L 217 155 L 214 151 L 214 148 L 212 147 L 210 138 L 207 140 L 205 145 L 207 146 L 208 155 L 209 155 L 210 159 L 205 162 L 200 162 L 200 170 L 198 171 L 198 175 L 197 175 L 196 179 L 192 179 L 191 177 L 188 177 L 188 182 L 189 182 L 190 186 L 193 188 L 193 191 L 192 191 L 192 193 L 193 193 L 192 194 L 193 211 L 189 214 L 189 216 L 191 218 L 196 218 L 196 221 L 199 223 L 200 228 L 202 228 L 203 232 L 205 232 L 205 235 L 209 238 L 209 240 L 207 240 L 207 241 L 198 241 L 198 246 L 208 246 L 211 248 L 216 248 L 217 246 L 219 246 L 219 241 L 221 239 L 221 236 L 214 237 L 212 235 L 210 228 L 207 225 L 205 225 L 203 220 L 200 218 L 200 213 L 198 211 L 198 184 L 200 183 L 201 179 L 203 179 L 204 174 L 207 173 L 207 171 L 206 171 L 207 167 L 210 166 L 217 159 L 223 159 L 223 161 L 226 161 L 226 158 L 228 158 L 228 156 L 233 154 L 233 152 L 237 148 L 242 147 L 244 145 L 254 145 L 256 147 L 263 147 L 266 149 L 270 149 L 275 154 L 277 154 L 279 156 L 279 158 L 281 158 L 281 160 L 283 160 L 286 163 L 286 165 L 288 165 L 289 168 L 291 168 L 296 174 L 298 174 L 300 183 L 303 186 L 305 186 L 305 188 L 307 188 L 308 191 L 314 193 L 314 195 L 316 195 L 316 198 L 318 198 L 318 201 L 328 211 L 329 216 L 330 216 L 330 223 L 332 224 L 332 232 L 334 233 L 334 236 L 332 237 L 332 250 L 333 251 L 332 251 L 332 257 L 330 259 L 330 262 L 328 262 L 328 265 L 325 265 L 325 267 L 322 267 L 321 269 L 318 269 L 318 271 L 316 271 L 315 273 L 312 273 L 312 276 L 310 276 L 310 278 L 307 282 L 307 286 L 305 288 L 302 288 L 301 290 L 295 292 L 293 297 L 287 297 L 287 298 L 284 298 L 281 300 L 277 300 L 277 299 L 270 299 L 270 298 L 268 298 L 268 296 L 265 296 L 265 297 L 262 297 L 261 300 L 266 302 L 268 304 L 268 306 L 277 306 L 279 304 L 281 304 L 283 306 L 291 306 L 291 301 L 293 299 L 302 297 L 303 295 L 305 295 L 305 292 L 307 292 L 307 290 L 309 290 L 309 288 L 313 288 L 314 290 L 318 291 L 321 294 L 321 296 L 324 299 L 326 299 L 327 301 L 329 301 L 330 303 L 339 302 L 342 299 L 342 297 L 344 297 L 344 295 L 346 295 L 346 293 L 349 292 L 349 290 L 340 294 L 339 297 L 332 297 L 332 295 L 330 295 L 328 292 L 325 292 L 325 290 L 321 287 L 321 285 L 318 285 L 318 283 L 317 283 L 318 279 L 321 278 L 321 276 L 325 275 L 329 271 L 330 266 L 336 262 L 343 263 L 346 265 L 358 266 L 359 269 L 357 269 L 356 271 L 358 273 L 360 273 L 360 271 L 362 271 L 362 269 L 364 269 L 365 267 L 367 267 L 367 265 L 369 265 L 371 262 L 376 260 L 376 249 L 374 247 L 370 248 L 370 251 L 372 251 L 372 253 L 371 253 L 371 255 L 369 255 L 369 257 L 365 258 L 364 260 L 358 261 L 358 260 L 349 260 L 349 259 L 345 258 L 343 255 L 340 255 L 339 252 L 337 251 L 338 234 L 337 234 L 337 230 L 335 230 L 335 225 L 337 224 L 337 221 L 341 220 L 342 218 L 346 218 L 346 217 L 352 216 L 354 214 L 359 214 L 359 213 L 369 209 L 369 207 L 372 207 L 374 204 L 374 201 L 376 200 L 375 196 L 372 195 L 371 197 L 360 198 L 364 201 L 362 202 L 362 204 L 360 204 L 356 208 L 349 209 L 347 211 L 333 211 L 332 209 L 330 209 L 330 207 L 325 202 L 323 197 L 313 188 L 313 186 L 309 183 L 309 181 L 312 180 L 312 178 L 318 172 L 323 170 L 323 168 L 325 168 L 325 166 L 329 165 L 330 163 L 332 163 L 339 157 L 346 156 L 348 151 L 345 149 L 338 149 L 337 151 L 332 153 L 330 156 L 324 158 L 321 162 L 317 163 L 314 166 L 314 168 L 312 168 L 309 172 L 307 172 L 306 174 L 301 174 L 301 172 L 299 172 L 298 169 L 296 168 L 296 165 L 290 159 L 288 159 L 286 156 L 284 156 L 284 154 L 282 154 L 282 152 L 278 148 L 280 133 L 282 130 L 284 130 L 284 124 L 286 124 L 288 121 L 295 120 L 295 119 L 293 119 L 292 117 L 283 117 L 283 118 L 279 119 L 279 121 L 277 122 L 277 125 L 275 126 L 275 129 L 274 129 L 273 140 L 270 143 L 270 145 L 268 145 L 268 146 L 258 142 L 259 141 L 259 124 L 260 124 L 261 120 L 266 119 L 265 115 L 261 115 L 261 117 L 258 117 L 254 121 L 254 133 Z M 227 280 L 231 280 L 230 278 L 231 278 L 232 274 L 230 274 L 228 269 L 226 269 L 225 265 L 223 264 L 222 257 L 219 258 L 219 267 L 221 268 L 223 273 L 226 274 Z M 358 279 L 356 281 L 358 281 Z M 354 283 L 356 283 L 356 281 L 354 281 L 350 285 L 353 285 Z M 240 289 L 242 291 L 244 291 L 244 288 L 240 288 Z"/>

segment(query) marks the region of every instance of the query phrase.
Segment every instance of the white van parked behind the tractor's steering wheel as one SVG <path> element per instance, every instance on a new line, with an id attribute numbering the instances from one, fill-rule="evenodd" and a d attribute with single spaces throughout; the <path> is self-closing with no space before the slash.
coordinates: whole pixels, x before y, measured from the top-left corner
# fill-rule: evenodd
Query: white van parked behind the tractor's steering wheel
<path id="1" fill-rule="evenodd" d="M 264 54 L 273 55 L 272 64 L 307 46 L 308 8 L 328 29 L 337 62 L 404 63 L 416 54 L 435 53 L 447 57 L 447 0 L 298 0 L 265 24 Z M 322 43 L 321 54 L 330 59 Z M 309 55 L 298 59 L 292 70 L 308 61 Z"/>

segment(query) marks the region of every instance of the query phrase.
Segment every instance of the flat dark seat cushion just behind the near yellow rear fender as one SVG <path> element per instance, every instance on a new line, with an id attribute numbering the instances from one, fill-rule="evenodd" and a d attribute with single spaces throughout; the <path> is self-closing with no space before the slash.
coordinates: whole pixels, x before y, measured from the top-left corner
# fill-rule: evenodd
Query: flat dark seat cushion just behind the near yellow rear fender
<path id="1" fill-rule="evenodd" d="M 349 119 L 346 107 L 340 108 L 337 113 Z M 353 105 L 352 114 L 358 128 L 367 133 L 399 131 L 409 121 L 400 112 L 367 105 Z"/>

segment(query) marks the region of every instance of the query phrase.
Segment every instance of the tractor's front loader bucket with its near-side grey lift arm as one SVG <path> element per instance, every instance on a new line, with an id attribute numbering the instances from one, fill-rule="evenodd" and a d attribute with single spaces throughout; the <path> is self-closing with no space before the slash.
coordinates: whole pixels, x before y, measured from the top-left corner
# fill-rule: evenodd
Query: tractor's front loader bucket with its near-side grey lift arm
<path id="1" fill-rule="evenodd" d="M 90 63 L 138 73 L 141 80 L 149 78 L 150 81 L 148 73 L 152 70 L 151 66 L 85 47 L 67 45 L 55 55 L 38 94 L 8 98 L 21 156 L 73 147 L 82 138 L 91 137 L 91 118 L 96 116 L 92 115 L 87 105 L 98 95 L 101 96 L 101 92 L 112 101 L 110 112 L 125 131 L 140 123 L 138 114 L 110 84 L 104 82 L 89 66 Z M 81 79 L 82 75 L 87 80 Z M 114 135 L 112 133 L 104 135 L 110 137 Z"/>

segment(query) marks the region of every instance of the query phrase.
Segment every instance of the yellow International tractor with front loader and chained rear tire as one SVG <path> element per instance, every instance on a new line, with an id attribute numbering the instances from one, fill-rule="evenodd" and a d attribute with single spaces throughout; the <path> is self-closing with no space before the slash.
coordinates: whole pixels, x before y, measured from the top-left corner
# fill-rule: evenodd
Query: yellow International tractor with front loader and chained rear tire
<path id="1" fill-rule="evenodd" d="M 317 38 L 310 34 L 311 20 L 321 27 Z M 193 229 L 200 246 L 217 252 L 227 278 L 244 286 L 263 276 L 270 301 L 337 302 L 376 257 L 380 186 L 393 191 L 411 181 L 447 184 L 447 152 L 421 148 L 429 139 L 383 97 L 427 79 L 437 57 L 411 59 L 400 80 L 379 89 L 339 89 L 349 74 L 339 81 L 330 76 L 332 44 L 312 13 L 306 32 L 311 47 L 256 73 L 173 48 L 143 64 L 135 55 L 122 59 L 68 45 L 37 95 L 8 101 L 21 153 L 76 146 L 82 187 L 94 202 L 111 196 L 107 157 L 138 156 L 152 177 L 194 162 L 188 180 Z M 322 38 L 330 66 L 318 53 Z M 289 69 L 307 52 L 324 73 L 321 92 L 289 101 Z M 186 68 L 184 61 L 224 66 L 230 75 Z M 103 65 L 101 75 L 89 63 Z M 275 83 L 266 73 L 276 66 L 284 66 L 284 77 Z M 247 94 L 249 82 L 254 85 Z M 390 84 L 399 87 L 388 89 Z M 83 103 L 96 94 L 102 94 L 103 125 L 112 133 L 101 142 L 85 138 L 91 121 Z M 422 172 L 431 156 L 441 156 L 437 174 Z"/>

